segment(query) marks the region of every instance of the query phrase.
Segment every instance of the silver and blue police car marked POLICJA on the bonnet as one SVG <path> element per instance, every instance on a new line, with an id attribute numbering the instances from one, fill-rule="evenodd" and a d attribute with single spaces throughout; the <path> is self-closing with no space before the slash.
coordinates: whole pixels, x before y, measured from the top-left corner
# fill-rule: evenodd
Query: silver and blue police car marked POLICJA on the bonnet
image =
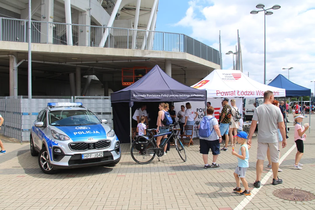
<path id="1" fill-rule="evenodd" d="M 113 129 L 82 103 L 48 103 L 31 128 L 31 155 L 44 173 L 59 168 L 114 166 L 121 158 Z"/>

